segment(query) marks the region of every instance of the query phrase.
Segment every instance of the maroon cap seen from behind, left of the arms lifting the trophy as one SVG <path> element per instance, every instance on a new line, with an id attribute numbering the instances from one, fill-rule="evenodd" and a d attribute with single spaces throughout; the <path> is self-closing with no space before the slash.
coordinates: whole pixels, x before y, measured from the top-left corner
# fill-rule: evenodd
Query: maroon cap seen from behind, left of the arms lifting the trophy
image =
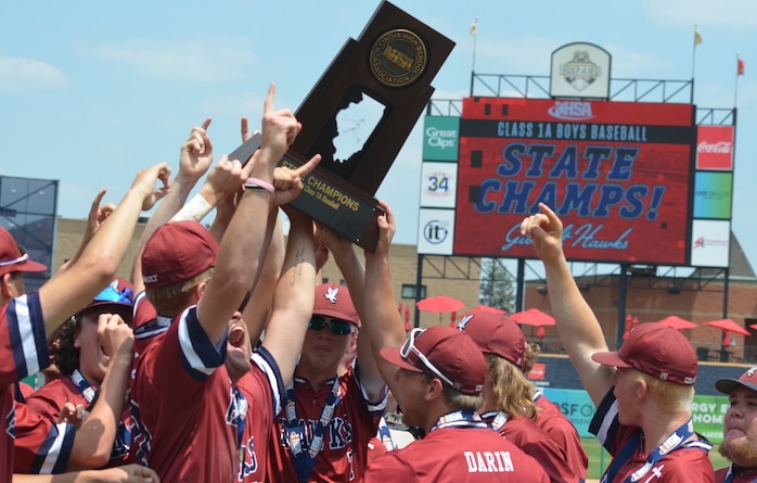
<path id="1" fill-rule="evenodd" d="M 218 242 L 197 221 L 175 221 L 155 230 L 142 253 L 142 281 L 167 287 L 190 280 L 216 264 Z"/>

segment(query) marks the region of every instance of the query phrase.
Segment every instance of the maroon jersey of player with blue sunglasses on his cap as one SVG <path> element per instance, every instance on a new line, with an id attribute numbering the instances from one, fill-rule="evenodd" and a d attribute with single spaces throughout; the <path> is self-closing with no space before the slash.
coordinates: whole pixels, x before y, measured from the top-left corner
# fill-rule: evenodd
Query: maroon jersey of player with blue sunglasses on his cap
<path id="1" fill-rule="evenodd" d="M 61 408 L 66 403 L 82 405 L 87 410 L 91 409 L 94 401 L 97 387 L 76 370 L 72 376 L 64 376 L 61 379 L 50 381 L 26 398 L 29 410 L 42 416 L 50 421 L 56 422 L 61 416 Z M 116 438 L 113 442 L 113 450 L 107 467 L 118 466 L 126 462 L 129 453 L 129 411 L 124 408 L 121 421 L 116 430 Z"/>

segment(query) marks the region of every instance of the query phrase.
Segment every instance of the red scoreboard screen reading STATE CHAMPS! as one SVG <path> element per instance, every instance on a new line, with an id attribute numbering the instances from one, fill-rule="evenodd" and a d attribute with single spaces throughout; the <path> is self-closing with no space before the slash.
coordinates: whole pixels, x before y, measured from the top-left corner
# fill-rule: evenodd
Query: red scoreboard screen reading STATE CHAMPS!
<path id="1" fill-rule="evenodd" d="M 534 257 L 524 217 L 543 202 L 570 259 L 685 265 L 694 105 L 466 98 L 454 254 Z"/>

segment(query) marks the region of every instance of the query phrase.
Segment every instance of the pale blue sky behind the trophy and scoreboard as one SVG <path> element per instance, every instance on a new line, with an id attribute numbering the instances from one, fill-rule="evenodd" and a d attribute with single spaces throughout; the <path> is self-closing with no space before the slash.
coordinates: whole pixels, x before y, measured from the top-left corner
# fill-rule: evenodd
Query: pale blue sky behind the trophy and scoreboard
<path id="1" fill-rule="evenodd" d="M 434 98 L 462 99 L 475 71 L 549 75 L 550 54 L 575 41 L 613 56 L 613 77 L 688 80 L 694 102 L 730 109 L 737 79 L 733 231 L 757 264 L 757 2 L 745 0 L 396 0 L 457 42 Z M 95 193 L 117 202 L 137 170 L 176 166 L 192 126 L 214 118 L 216 158 L 258 125 L 268 84 L 293 111 L 377 1 L 10 2 L 0 29 L 0 175 L 57 179 L 59 214 L 84 218 Z M 376 196 L 398 218 L 396 241 L 416 242 L 422 122 Z"/>

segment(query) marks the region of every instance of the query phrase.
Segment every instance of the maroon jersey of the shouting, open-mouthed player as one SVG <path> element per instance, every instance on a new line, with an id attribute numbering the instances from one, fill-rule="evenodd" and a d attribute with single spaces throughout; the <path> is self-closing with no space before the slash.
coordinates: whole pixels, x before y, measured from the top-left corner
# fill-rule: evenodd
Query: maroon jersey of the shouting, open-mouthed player
<path id="1" fill-rule="evenodd" d="M 235 481 L 245 483 L 268 481 L 268 440 L 286 391 L 279 366 L 266 347 L 253 354 L 252 363 L 253 369 L 236 383 L 247 407 L 245 414 L 238 415 L 244 430 L 238 449 Z"/>

